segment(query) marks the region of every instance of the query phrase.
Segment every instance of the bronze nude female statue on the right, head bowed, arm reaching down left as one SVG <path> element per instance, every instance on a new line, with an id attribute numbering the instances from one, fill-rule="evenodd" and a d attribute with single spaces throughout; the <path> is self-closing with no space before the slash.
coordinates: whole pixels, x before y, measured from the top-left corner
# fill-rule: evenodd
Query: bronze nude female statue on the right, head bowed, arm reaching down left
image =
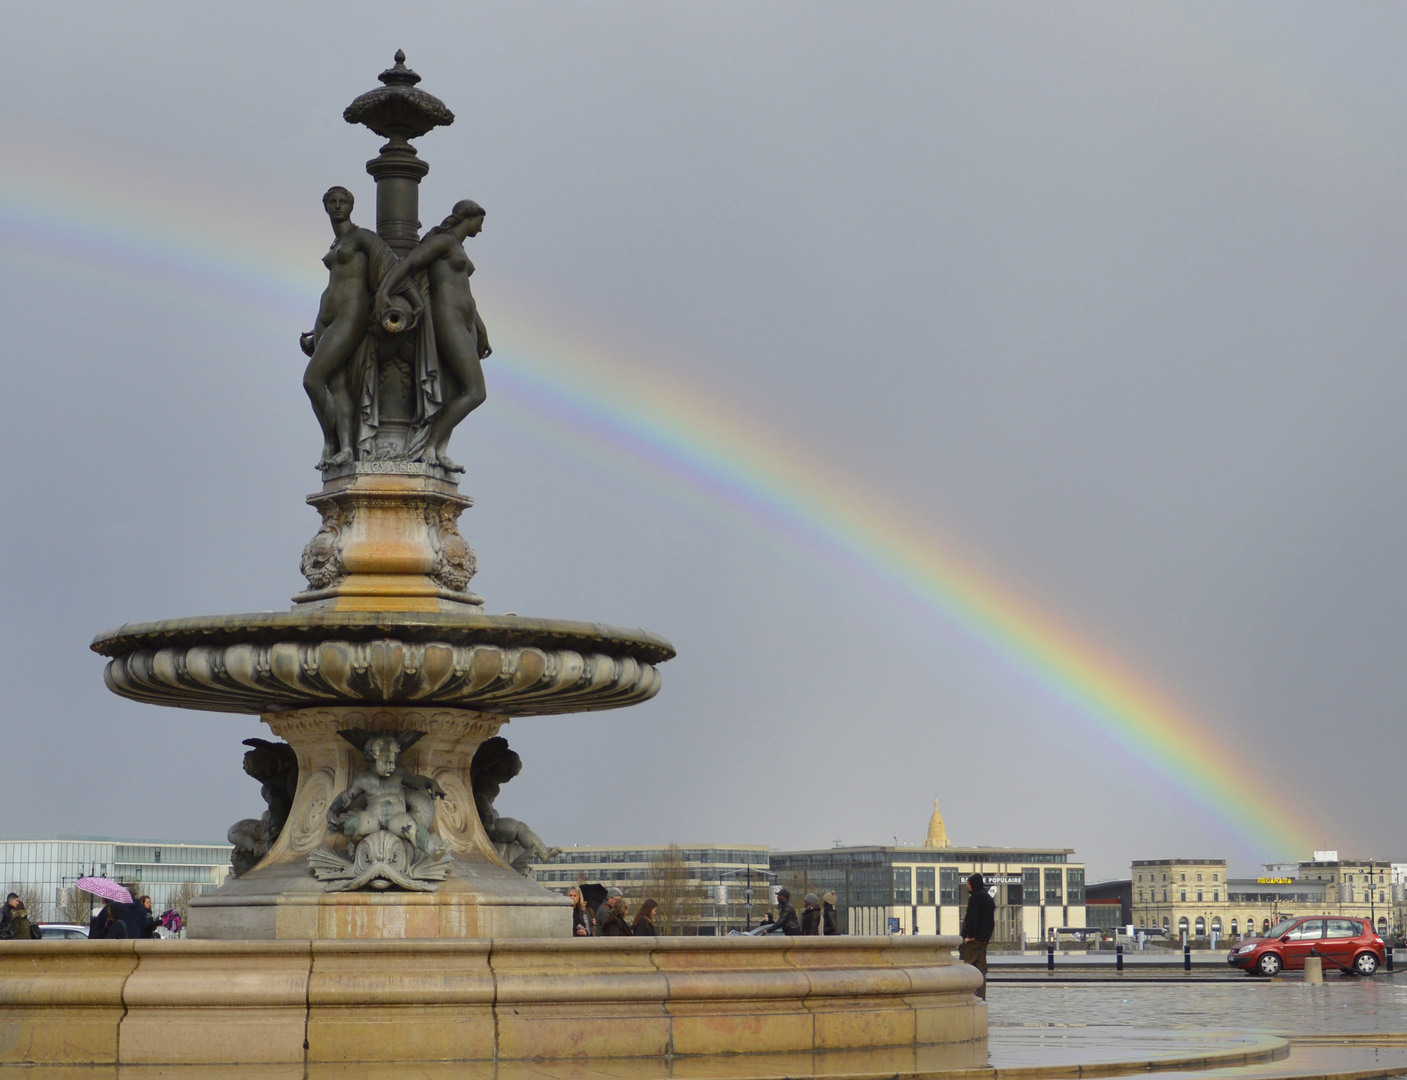
<path id="1" fill-rule="evenodd" d="M 381 278 L 376 294 L 376 309 L 383 311 L 391 294 L 425 271 L 429 278 L 431 322 L 440 370 L 449 371 L 457 384 L 456 392 L 411 440 L 411 457 L 439 465 L 450 472 L 463 472 L 445 453 L 450 432 L 470 412 L 484 404 L 484 368 L 480 360 L 492 354 L 488 330 L 478 316 L 478 305 L 469 288 L 474 264 L 464 253 L 464 240 L 484 228 L 484 208 L 471 200 L 454 204 L 443 222 L 425 233 L 416 248 Z"/>

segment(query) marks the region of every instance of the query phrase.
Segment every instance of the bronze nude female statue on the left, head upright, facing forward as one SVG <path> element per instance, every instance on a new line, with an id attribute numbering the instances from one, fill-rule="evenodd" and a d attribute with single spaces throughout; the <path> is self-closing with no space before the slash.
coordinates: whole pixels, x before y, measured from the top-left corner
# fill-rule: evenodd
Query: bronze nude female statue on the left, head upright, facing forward
<path id="1" fill-rule="evenodd" d="M 300 339 L 311 359 L 303 373 L 303 388 L 322 425 L 321 465 L 352 460 L 356 416 L 348 388 L 348 363 L 366 339 L 371 300 L 377 284 L 395 263 L 393 252 L 371 229 L 352 224 L 355 200 L 345 187 L 329 187 L 322 208 L 332 222 L 333 240 L 322 262 L 328 287 L 318 307 L 318 323 Z"/>

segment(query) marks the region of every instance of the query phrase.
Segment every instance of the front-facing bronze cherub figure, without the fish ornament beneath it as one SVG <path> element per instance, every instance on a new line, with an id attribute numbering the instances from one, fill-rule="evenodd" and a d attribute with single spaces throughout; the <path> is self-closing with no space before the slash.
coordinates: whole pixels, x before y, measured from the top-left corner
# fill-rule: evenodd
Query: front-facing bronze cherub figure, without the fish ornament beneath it
<path id="1" fill-rule="evenodd" d="M 328 806 L 328 825 L 353 844 L 386 830 L 425 854 L 439 851 L 431 825 L 435 824 L 435 800 L 445 797 L 445 789 L 432 778 L 397 764 L 401 751 L 415 745 L 425 733 L 352 730 L 338 734 L 362 751 L 367 768 Z M 364 810 L 355 809 L 359 802 L 364 803 Z"/>

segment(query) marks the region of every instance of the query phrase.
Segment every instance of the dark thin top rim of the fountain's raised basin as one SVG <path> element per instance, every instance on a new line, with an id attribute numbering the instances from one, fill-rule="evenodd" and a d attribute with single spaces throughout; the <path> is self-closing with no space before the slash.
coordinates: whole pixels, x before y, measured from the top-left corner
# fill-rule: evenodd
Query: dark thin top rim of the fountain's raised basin
<path id="1" fill-rule="evenodd" d="M 142 648 L 193 648 L 305 641 L 439 641 L 508 648 L 570 648 L 663 664 L 675 651 L 647 630 L 573 619 L 457 612 L 253 612 L 122 623 L 97 634 L 89 648 L 122 657 Z"/>

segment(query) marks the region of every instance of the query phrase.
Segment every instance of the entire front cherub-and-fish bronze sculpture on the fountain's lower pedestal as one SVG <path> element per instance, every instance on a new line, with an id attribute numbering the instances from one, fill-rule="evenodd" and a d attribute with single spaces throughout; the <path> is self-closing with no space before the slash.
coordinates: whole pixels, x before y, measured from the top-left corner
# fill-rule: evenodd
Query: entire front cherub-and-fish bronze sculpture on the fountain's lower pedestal
<path id="1" fill-rule="evenodd" d="M 401 754 L 424 731 L 338 731 L 362 751 L 367 768 L 328 807 L 328 828 L 352 844 L 352 858 L 318 848 L 308 865 L 329 892 L 390 889 L 433 892 L 449 875 L 449 851 L 431 830 L 445 790 L 401 768 Z"/>

